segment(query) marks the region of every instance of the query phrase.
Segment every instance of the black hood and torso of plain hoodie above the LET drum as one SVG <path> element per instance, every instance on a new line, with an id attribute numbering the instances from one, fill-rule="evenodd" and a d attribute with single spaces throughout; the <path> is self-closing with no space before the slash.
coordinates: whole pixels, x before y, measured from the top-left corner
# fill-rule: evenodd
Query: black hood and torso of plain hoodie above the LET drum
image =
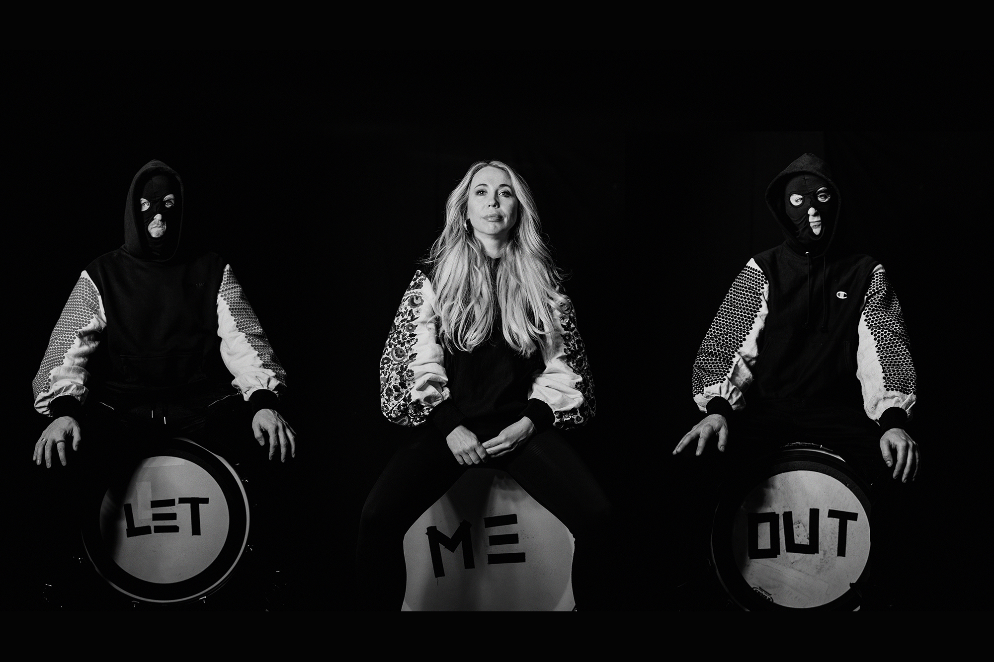
<path id="1" fill-rule="evenodd" d="M 218 290 L 225 261 L 184 246 L 183 216 L 171 224 L 175 250 L 155 255 L 137 207 L 139 187 L 156 174 L 183 180 L 161 161 L 134 176 L 124 205 L 124 246 L 86 267 L 102 297 L 107 329 L 90 371 L 111 400 L 177 398 L 231 381 L 220 358 Z M 189 233 L 187 233 L 189 235 Z M 188 242 L 189 243 L 189 242 Z M 224 387 L 229 391 L 230 386 Z"/>

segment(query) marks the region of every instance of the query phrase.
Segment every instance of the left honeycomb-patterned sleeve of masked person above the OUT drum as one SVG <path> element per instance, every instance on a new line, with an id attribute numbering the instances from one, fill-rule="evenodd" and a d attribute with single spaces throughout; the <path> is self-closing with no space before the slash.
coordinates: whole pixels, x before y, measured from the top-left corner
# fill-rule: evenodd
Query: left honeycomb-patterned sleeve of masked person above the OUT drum
<path id="1" fill-rule="evenodd" d="M 739 411 L 752 383 L 758 338 L 766 322 L 769 282 L 754 259 L 736 276 L 697 351 L 693 369 L 694 402 L 702 412 L 708 402 L 724 398 Z"/>

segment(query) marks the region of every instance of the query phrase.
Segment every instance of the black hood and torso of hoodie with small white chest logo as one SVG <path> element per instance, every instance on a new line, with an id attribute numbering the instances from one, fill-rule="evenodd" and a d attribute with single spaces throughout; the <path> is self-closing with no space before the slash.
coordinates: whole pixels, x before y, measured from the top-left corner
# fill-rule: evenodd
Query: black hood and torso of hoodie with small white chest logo
<path id="1" fill-rule="evenodd" d="M 796 227 L 783 209 L 784 187 L 800 173 L 826 180 L 837 196 L 835 218 L 811 248 L 797 241 Z M 766 204 L 785 241 L 753 258 L 769 282 L 769 311 L 759 339 L 753 393 L 759 399 L 860 405 L 858 325 L 878 262 L 869 255 L 832 252 L 842 196 L 817 156 L 804 154 L 777 175 L 766 189 Z"/>

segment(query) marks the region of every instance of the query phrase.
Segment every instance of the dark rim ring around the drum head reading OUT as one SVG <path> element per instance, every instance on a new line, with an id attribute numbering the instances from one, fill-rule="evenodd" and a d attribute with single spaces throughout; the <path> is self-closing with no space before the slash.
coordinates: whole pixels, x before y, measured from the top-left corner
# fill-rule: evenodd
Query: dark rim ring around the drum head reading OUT
<path id="1" fill-rule="evenodd" d="M 771 602 L 760 597 L 735 566 L 728 538 L 731 536 L 733 520 L 739 505 L 745 498 L 747 491 L 757 481 L 783 473 L 786 470 L 816 471 L 835 478 L 853 492 L 866 512 L 867 522 L 872 525 L 870 486 L 846 465 L 845 460 L 829 449 L 812 447 L 809 444 L 790 444 L 750 464 L 742 478 L 727 485 L 722 491 L 711 528 L 711 559 L 715 574 L 729 596 L 740 607 L 748 611 L 796 610 L 798 608 L 823 611 L 853 609 L 859 605 L 861 600 L 859 591 L 854 587 L 850 587 L 849 590 L 830 602 L 810 607 L 789 607 Z M 720 534 L 720 532 L 724 532 L 724 534 Z M 718 552 L 718 550 L 724 551 Z M 860 577 L 854 583 L 859 584 L 865 581 L 869 577 L 869 572 L 870 559 L 868 558 Z M 723 576 L 723 574 L 728 577 Z"/>

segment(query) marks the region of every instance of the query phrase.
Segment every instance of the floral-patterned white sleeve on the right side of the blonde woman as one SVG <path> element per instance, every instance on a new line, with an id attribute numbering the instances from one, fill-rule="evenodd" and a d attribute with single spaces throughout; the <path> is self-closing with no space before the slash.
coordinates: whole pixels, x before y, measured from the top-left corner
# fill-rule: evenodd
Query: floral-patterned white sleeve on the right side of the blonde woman
<path id="1" fill-rule="evenodd" d="M 593 379 L 573 302 L 561 294 L 553 302 L 553 313 L 556 326 L 543 343 L 546 367 L 535 377 L 528 398 L 549 406 L 555 416 L 553 426 L 568 429 L 585 424 L 595 414 Z"/>

